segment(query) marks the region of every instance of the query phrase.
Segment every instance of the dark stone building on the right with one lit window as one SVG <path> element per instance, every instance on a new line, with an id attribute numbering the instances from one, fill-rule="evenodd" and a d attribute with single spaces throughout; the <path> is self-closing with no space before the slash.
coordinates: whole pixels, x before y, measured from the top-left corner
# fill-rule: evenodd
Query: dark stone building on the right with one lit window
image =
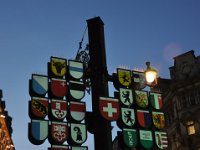
<path id="1" fill-rule="evenodd" d="M 200 150 L 200 56 L 194 50 L 174 57 L 170 79 L 158 78 L 162 92 L 168 149 Z"/>

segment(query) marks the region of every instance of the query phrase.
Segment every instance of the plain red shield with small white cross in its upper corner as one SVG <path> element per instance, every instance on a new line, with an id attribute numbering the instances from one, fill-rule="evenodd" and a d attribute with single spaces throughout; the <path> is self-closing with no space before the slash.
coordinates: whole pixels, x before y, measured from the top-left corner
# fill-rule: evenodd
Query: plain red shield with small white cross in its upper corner
<path id="1" fill-rule="evenodd" d="M 66 96 L 68 91 L 66 80 L 62 79 L 52 78 L 50 87 L 52 95 L 57 98 L 63 98 L 64 96 Z"/>

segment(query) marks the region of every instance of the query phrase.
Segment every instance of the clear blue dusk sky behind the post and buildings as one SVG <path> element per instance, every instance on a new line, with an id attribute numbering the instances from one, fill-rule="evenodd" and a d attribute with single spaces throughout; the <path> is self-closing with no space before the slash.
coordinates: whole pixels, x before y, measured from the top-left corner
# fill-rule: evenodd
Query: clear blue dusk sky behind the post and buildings
<path id="1" fill-rule="evenodd" d="M 199 0 L 0 0 L 0 88 L 16 149 L 49 146 L 27 139 L 28 80 L 32 73 L 47 74 L 51 56 L 75 58 L 87 19 L 100 16 L 105 24 L 109 73 L 151 61 L 169 78 L 174 56 L 191 49 L 200 55 L 199 8 Z M 83 46 L 87 42 L 86 34 Z"/>

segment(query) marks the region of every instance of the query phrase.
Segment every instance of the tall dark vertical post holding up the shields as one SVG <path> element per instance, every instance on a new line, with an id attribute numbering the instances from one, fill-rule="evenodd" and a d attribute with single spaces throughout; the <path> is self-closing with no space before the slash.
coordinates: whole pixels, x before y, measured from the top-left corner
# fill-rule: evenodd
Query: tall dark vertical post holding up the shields
<path id="1" fill-rule="evenodd" d="M 99 97 L 108 94 L 108 71 L 104 40 L 104 23 L 100 17 L 87 20 L 92 87 L 92 116 L 95 150 L 111 150 L 111 123 L 100 115 Z"/>

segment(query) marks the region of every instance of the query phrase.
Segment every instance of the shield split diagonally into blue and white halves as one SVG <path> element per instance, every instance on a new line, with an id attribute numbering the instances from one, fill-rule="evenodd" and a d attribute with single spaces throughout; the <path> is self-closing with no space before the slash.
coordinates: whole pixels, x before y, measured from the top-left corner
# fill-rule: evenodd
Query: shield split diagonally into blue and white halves
<path id="1" fill-rule="evenodd" d="M 33 91 L 33 93 L 35 93 L 36 95 L 44 97 L 48 92 L 48 77 L 33 74 L 30 91 Z M 31 92 L 30 95 L 33 96 L 33 93 Z"/>

